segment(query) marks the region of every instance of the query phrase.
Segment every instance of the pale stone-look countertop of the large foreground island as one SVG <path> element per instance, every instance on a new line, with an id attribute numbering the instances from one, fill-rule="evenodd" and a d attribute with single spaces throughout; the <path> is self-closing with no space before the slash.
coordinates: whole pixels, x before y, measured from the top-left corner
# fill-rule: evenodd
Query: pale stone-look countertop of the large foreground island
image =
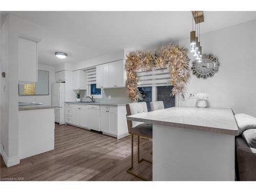
<path id="1" fill-rule="evenodd" d="M 127 116 L 127 120 L 170 127 L 238 135 L 238 126 L 230 108 L 176 106 L 164 110 Z"/>

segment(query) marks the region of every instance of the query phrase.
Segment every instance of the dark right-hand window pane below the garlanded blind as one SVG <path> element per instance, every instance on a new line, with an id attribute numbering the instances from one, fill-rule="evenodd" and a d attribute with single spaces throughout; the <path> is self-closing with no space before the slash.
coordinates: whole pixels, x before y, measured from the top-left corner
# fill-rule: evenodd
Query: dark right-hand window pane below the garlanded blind
<path id="1" fill-rule="evenodd" d="M 173 86 L 158 86 L 157 101 L 163 101 L 164 108 L 175 106 L 175 96 L 172 96 Z"/>

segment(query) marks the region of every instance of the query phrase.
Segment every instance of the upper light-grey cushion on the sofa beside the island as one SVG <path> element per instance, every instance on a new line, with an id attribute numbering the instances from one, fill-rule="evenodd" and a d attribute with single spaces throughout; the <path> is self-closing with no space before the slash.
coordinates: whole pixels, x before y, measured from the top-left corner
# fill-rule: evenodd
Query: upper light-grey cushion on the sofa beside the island
<path id="1" fill-rule="evenodd" d="M 250 115 L 239 113 L 234 115 L 238 124 L 238 135 L 241 135 L 245 130 L 256 129 L 256 118 Z"/>

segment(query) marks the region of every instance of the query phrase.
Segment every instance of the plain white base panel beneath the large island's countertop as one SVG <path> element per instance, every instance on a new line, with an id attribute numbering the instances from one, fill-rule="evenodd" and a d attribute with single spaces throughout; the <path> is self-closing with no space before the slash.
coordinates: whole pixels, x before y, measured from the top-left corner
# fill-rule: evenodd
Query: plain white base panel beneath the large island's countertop
<path id="1" fill-rule="evenodd" d="M 234 136 L 153 124 L 153 181 L 234 181 Z"/>

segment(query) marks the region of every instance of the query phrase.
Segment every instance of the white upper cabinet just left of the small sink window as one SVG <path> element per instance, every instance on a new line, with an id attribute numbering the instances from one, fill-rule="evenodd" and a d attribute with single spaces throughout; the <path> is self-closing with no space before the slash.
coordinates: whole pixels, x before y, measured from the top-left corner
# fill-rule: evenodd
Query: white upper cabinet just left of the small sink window
<path id="1" fill-rule="evenodd" d="M 87 80 L 86 71 L 77 70 L 73 71 L 73 90 L 86 90 Z"/>

